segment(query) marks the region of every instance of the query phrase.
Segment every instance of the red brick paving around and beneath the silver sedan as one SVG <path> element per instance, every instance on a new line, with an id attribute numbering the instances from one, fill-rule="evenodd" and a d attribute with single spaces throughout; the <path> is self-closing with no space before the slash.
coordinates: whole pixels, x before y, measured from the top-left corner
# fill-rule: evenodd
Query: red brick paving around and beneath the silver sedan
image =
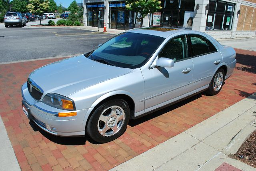
<path id="1" fill-rule="evenodd" d="M 130 121 L 115 141 L 94 144 L 85 137 L 56 137 L 28 121 L 20 87 L 38 60 L 0 65 L 0 115 L 22 170 L 108 170 L 170 139 L 256 92 L 256 52 L 236 50 L 238 63 L 218 95 L 204 93 Z"/>

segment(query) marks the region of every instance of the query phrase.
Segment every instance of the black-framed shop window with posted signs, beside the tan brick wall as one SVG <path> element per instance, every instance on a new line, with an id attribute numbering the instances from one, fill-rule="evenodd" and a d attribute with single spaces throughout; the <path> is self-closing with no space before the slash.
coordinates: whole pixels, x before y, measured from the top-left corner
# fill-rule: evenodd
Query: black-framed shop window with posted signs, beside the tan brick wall
<path id="1" fill-rule="evenodd" d="M 231 30 L 235 4 L 209 0 L 205 30 Z"/>

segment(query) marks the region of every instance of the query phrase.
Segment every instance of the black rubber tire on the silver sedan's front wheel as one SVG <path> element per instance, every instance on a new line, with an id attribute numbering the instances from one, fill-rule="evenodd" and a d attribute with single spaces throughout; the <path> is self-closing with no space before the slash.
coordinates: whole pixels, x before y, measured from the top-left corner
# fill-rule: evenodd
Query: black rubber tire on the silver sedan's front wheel
<path id="1" fill-rule="evenodd" d="M 116 133 L 114 133 L 111 136 L 104 136 L 104 135 L 101 135 L 98 130 L 98 125 L 100 125 L 100 124 L 98 124 L 98 123 L 100 123 L 99 118 L 102 115 L 102 113 L 104 112 L 104 110 L 108 109 L 111 106 L 118 106 L 123 109 L 124 121 L 123 121 L 123 123 L 121 122 L 122 124 L 119 127 L 120 128 L 119 131 L 117 131 Z M 106 111 L 106 113 L 108 113 L 107 111 Z M 111 115 L 112 114 L 110 113 L 109 117 L 111 117 Z M 111 118 L 113 118 L 113 117 L 111 117 Z M 111 118 L 109 118 L 109 119 L 111 119 Z M 98 143 L 110 142 L 110 141 L 113 141 L 114 139 L 120 137 L 120 135 L 122 135 L 122 133 L 124 133 L 124 131 L 126 130 L 126 127 L 128 125 L 129 119 L 130 119 L 130 108 L 125 100 L 113 99 L 113 100 L 107 101 L 107 102 L 103 103 L 102 105 L 100 105 L 99 107 L 97 107 L 96 110 L 93 111 L 92 115 L 88 119 L 89 120 L 88 120 L 87 127 L 86 127 L 87 135 L 89 135 L 94 141 L 96 141 Z M 108 121 L 109 121 L 109 119 L 108 119 Z M 118 123 L 119 122 L 118 122 L 118 118 L 117 118 L 115 125 L 118 125 Z M 110 132 L 111 132 L 112 129 L 108 128 L 108 130 L 110 130 Z"/>

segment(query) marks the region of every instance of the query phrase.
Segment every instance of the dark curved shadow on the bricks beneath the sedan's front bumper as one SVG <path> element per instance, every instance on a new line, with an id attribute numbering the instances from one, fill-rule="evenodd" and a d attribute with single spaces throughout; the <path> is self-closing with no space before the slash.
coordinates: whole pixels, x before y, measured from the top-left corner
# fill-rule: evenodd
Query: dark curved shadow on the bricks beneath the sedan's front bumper
<path id="1" fill-rule="evenodd" d="M 34 121 L 29 122 L 30 126 L 33 128 L 34 131 L 39 131 L 44 137 L 49 139 L 50 141 L 61 144 L 61 145 L 85 145 L 86 141 L 89 141 L 90 143 L 97 144 L 95 141 L 90 139 L 89 137 L 61 137 L 61 136 L 56 136 L 52 135 L 44 130 L 42 130 Z"/>

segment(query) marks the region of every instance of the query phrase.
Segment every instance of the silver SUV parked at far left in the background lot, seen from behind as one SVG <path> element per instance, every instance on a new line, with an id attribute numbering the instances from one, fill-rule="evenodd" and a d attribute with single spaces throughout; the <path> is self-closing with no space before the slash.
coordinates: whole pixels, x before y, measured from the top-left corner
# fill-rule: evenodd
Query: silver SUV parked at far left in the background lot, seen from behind
<path id="1" fill-rule="evenodd" d="M 8 12 L 4 16 L 4 26 L 18 25 L 20 27 L 26 26 L 25 18 L 19 12 Z"/>

